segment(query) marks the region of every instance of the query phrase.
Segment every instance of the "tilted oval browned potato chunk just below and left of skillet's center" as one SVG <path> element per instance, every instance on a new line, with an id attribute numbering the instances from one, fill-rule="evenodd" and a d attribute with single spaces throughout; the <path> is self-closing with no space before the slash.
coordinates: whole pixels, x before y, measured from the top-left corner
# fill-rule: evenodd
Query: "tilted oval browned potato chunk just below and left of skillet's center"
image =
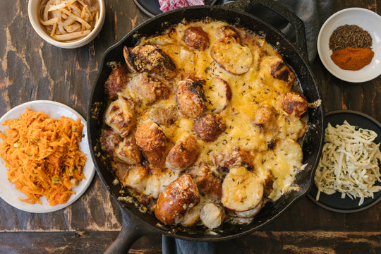
<path id="1" fill-rule="evenodd" d="M 182 171 L 191 166 L 200 153 L 197 140 L 191 135 L 179 140 L 171 148 L 167 155 L 165 164 L 168 169 Z"/>

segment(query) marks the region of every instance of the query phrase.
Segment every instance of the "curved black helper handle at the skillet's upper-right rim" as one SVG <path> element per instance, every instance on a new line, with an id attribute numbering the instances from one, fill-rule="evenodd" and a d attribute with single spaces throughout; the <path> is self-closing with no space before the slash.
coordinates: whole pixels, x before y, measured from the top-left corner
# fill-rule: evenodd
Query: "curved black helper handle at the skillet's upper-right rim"
<path id="1" fill-rule="evenodd" d="M 273 11 L 277 13 L 279 16 L 287 20 L 291 25 L 295 28 L 296 33 L 296 41 L 292 42 L 298 52 L 301 52 L 301 55 L 304 59 L 306 59 L 308 63 L 308 49 L 307 49 L 307 41 L 306 41 L 306 30 L 304 29 L 303 20 L 301 20 L 296 14 L 286 8 L 286 6 L 282 5 L 282 1 L 276 2 L 273 0 L 237 0 L 234 2 L 229 2 L 228 4 L 224 4 L 229 9 L 244 11 L 246 13 L 250 13 L 255 16 L 253 10 L 255 10 L 255 6 L 263 6 L 267 8 L 269 11 Z M 266 20 L 262 20 L 265 23 Z M 268 24 L 268 23 L 267 23 Z M 274 26 L 270 23 L 268 24 L 274 28 Z M 277 30 L 277 28 L 275 28 Z M 282 33 L 283 34 L 283 33 Z M 288 37 L 286 35 L 286 37 Z M 289 38 L 291 39 L 291 38 Z"/>

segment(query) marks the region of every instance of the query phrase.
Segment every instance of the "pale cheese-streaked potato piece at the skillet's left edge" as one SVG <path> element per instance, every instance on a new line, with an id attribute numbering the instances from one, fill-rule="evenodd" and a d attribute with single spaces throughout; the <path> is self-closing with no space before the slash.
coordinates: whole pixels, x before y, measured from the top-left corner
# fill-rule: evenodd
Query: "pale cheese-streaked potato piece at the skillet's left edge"
<path id="1" fill-rule="evenodd" d="M 135 109 L 132 99 L 119 95 L 118 99 L 107 107 L 104 121 L 122 138 L 126 137 L 135 124 Z"/>

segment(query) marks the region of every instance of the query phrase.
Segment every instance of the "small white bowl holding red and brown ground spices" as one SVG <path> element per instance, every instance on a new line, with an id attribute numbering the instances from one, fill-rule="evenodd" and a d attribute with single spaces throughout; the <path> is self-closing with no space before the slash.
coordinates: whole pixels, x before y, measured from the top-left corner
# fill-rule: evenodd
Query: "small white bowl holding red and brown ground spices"
<path id="1" fill-rule="evenodd" d="M 331 59 L 329 37 L 341 25 L 358 25 L 370 33 L 373 40 L 372 50 L 375 52 L 372 62 L 358 71 L 346 71 L 337 66 Z M 346 8 L 330 16 L 320 28 L 317 37 L 317 52 L 325 68 L 337 78 L 360 83 L 381 74 L 381 16 L 365 8 Z"/>

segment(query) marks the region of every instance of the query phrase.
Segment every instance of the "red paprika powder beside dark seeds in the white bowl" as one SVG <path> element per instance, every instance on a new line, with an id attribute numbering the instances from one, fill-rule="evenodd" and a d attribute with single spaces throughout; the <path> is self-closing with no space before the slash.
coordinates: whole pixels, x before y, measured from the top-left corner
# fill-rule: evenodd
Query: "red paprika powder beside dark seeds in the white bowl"
<path id="1" fill-rule="evenodd" d="M 346 47 L 332 53 L 331 59 L 343 70 L 358 71 L 373 59 L 372 49 Z"/>

